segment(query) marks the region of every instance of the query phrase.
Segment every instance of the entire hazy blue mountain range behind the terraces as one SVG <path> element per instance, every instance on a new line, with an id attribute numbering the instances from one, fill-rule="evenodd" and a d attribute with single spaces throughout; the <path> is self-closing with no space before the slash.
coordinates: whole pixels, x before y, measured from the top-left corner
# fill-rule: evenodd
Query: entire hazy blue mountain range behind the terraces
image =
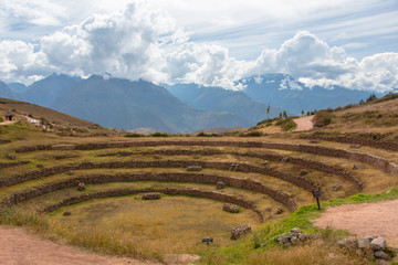
<path id="1" fill-rule="evenodd" d="M 0 82 L 0 97 L 27 100 L 111 128 L 191 132 L 212 127 L 251 127 L 284 110 L 298 115 L 302 110 L 358 103 L 370 95 L 344 87 L 310 88 L 284 74 L 252 76 L 237 84 L 244 89 L 197 84 L 159 86 L 109 75 L 83 80 L 52 74 L 28 87 Z"/>

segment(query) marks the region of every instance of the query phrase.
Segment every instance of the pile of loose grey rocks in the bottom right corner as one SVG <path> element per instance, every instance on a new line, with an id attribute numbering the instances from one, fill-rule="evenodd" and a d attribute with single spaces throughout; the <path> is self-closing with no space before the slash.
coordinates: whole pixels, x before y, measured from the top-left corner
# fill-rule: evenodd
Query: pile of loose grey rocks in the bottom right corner
<path id="1" fill-rule="evenodd" d="M 387 242 L 379 236 L 365 236 L 357 241 L 354 236 L 348 236 L 337 244 L 347 250 L 356 250 L 358 256 L 368 256 L 376 258 L 378 264 L 389 264 L 391 259 L 389 252 L 387 252 Z"/>

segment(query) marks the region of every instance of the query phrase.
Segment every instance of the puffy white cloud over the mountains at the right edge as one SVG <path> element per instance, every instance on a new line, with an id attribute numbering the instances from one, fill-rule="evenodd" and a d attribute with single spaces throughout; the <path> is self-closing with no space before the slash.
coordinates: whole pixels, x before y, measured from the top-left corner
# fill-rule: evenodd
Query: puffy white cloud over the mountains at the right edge
<path id="1" fill-rule="evenodd" d="M 264 50 L 248 74 L 290 74 L 308 86 L 341 85 L 356 89 L 397 87 L 398 53 L 381 53 L 360 62 L 342 47 L 331 47 L 314 34 L 300 31 L 279 50 Z"/>

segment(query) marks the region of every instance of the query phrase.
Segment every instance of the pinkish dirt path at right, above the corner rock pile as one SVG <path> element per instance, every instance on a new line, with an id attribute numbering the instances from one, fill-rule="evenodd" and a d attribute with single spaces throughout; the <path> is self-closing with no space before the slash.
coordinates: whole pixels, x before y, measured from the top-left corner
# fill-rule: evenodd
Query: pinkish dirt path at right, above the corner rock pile
<path id="1" fill-rule="evenodd" d="M 398 247 L 398 200 L 329 208 L 314 225 L 346 230 L 357 236 L 378 235 Z"/>

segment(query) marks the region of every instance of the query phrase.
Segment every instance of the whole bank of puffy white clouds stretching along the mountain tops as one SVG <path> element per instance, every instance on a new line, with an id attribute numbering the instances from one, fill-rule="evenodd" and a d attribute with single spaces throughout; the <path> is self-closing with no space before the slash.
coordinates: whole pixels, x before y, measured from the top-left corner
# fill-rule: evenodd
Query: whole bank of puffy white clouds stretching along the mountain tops
<path id="1" fill-rule="evenodd" d="M 308 86 L 345 86 L 378 92 L 398 87 L 398 53 L 362 60 L 329 46 L 308 31 L 298 31 L 279 49 L 256 60 L 237 60 L 217 43 L 190 41 L 170 14 L 146 2 L 130 2 L 121 12 L 93 14 L 40 39 L 0 42 L 0 80 L 30 83 L 52 72 L 88 76 L 112 73 L 155 83 L 198 83 L 240 89 L 235 81 L 265 73 L 292 75 Z"/>

